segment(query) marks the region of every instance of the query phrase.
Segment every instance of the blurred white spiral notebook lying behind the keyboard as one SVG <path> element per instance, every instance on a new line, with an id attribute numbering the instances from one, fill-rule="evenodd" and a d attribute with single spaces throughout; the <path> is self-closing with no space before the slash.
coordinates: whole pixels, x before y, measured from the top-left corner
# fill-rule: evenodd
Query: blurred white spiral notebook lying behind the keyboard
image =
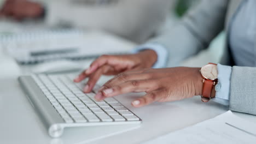
<path id="1" fill-rule="evenodd" d="M 0 48 L 20 64 L 35 64 L 60 59 L 78 60 L 103 54 L 129 53 L 130 41 L 98 31 L 58 29 L 5 35 Z"/>

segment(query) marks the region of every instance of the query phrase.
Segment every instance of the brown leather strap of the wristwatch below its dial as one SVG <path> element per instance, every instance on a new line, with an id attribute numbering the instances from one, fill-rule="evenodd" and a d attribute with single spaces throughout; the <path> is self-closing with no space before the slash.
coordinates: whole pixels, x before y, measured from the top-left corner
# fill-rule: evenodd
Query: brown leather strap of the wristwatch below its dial
<path id="1" fill-rule="evenodd" d="M 215 85 L 214 81 L 206 81 L 203 80 L 203 88 L 202 88 L 202 101 L 208 102 L 212 97 L 212 88 Z"/>

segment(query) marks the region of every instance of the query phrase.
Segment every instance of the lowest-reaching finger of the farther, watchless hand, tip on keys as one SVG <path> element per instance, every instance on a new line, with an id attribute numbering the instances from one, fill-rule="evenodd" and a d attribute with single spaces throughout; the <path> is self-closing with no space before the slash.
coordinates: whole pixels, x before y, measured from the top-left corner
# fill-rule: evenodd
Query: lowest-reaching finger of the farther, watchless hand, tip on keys
<path id="1" fill-rule="evenodd" d="M 91 92 L 92 88 L 94 88 L 96 82 L 98 81 L 98 79 L 100 79 L 101 75 L 107 73 L 107 71 L 110 69 L 111 67 L 109 65 L 104 65 L 103 67 L 98 69 L 95 73 L 91 74 L 89 76 L 89 81 L 84 87 L 84 92 L 85 93 Z"/>

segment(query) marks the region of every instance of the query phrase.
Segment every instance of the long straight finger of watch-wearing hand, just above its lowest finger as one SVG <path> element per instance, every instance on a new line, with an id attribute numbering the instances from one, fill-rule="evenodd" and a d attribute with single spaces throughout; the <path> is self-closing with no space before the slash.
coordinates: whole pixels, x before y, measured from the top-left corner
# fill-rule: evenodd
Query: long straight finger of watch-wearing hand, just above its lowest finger
<path id="1" fill-rule="evenodd" d="M 158 80 L 132 80 L 116 85 L 107 89 L 103 89 L 102 94 L 105 97 L 114 97 L 115 95 L 129 92 L 149 92 L 158 89 Z"/>

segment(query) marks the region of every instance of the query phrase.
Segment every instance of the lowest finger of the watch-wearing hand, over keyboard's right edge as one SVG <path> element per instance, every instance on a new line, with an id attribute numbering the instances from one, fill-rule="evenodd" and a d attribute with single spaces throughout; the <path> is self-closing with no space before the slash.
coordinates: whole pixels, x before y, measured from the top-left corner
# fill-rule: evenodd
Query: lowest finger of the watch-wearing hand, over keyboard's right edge
<path id="1" fill-rule="evenodd" d="M 152 91 L 147 93 L 146 95 L 144 95 L 141 98 L 138 98 L 134 101 L 132 101 L 132 105 L 134 107 L 142 107 L 145 105 L 149 105 L 154 103 L 155 101 L 159 101 L 160 99 L 167 97 L 167 93 L 166 91 L 164 91 L 164 89 L 160 89 L 157 91 Z"/>

